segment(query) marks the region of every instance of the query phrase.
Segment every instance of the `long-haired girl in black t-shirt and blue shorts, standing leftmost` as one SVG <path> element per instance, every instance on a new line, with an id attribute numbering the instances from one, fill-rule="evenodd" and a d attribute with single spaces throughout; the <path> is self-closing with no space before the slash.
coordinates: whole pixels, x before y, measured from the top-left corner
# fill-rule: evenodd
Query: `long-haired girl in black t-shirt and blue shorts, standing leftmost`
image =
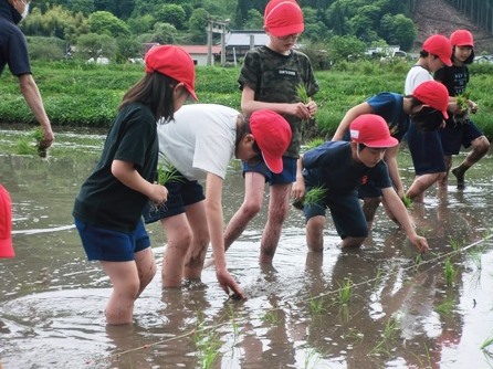
<path id="1" fill-rule="evenodd" d="M 168 120 L 185 101 L 196 98 L 190 55 L 172 45 L 145 56 L 146 75 L 124 95 L 94 171 L 82 184 L 73 215 L 88 260 L 98 260 L 113 284 L 108 324 L 129 324 L 134 302 L 150 283 L 156 263 L 141 214 L 150 199 L 168 191 L 155 183 L 157 122 Z"/>

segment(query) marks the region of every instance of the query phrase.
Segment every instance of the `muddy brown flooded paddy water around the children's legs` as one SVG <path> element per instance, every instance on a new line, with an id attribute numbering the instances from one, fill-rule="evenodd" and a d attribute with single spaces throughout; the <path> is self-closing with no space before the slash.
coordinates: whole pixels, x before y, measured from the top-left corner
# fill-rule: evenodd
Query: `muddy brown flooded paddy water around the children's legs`
<path id="1" fill-rule="evenodd" d="M 471 171 L 464 191 L 451 181 L 447 194 L 433 190 L 410 210 L 432 250 L 422 260 L 381 210 L 361 250 L 337 249 L 329 222 L 324 253 L 308 253 L 303 217 L 293 209 L 273 265 L 261 266 L 263 211 L 227 254 L 248 301 L 227 301 L 211 268 L 202 284 L 180 289 L 162 289 L 158 274 L 136 302 L 135 324 L 106 327 L 109 282 L 86 261 L 71 217 L 103 136 L 59 135 L 48 161 L 7 154 L 14 137 L 0 131 L 0 182 L 13 201 L 17 252 L 0 260 L 7 369 L 493 366 L 493 345 L 481 349 L 493 338 L 491 156 Z M 400 164 L 409 186 L 406 149 Z M 242 189 L 233 165 L 227 219 Z M 160 261 L 165 236 L 158 224 L 148 230 Z"/>

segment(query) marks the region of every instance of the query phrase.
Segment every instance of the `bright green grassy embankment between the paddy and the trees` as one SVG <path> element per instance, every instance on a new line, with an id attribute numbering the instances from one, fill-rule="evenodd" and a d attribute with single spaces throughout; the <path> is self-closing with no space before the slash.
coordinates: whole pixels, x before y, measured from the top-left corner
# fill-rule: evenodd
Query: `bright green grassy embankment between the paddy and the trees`
<path id="1" fill-rule="evenodd" d="M 321 92 L 315 96 L 319 110 L 319 135 L 334 133 L 344 113 L 367 97 L 384 91 L 401 93 L 412 63 L 380 65 L 375 62 L 339 63 L 332 71 L 316 72 Z M 472 65 L 470 96 L 480 105 L 474 122 L 493 138 L 493 65 Z M 81 65 L 33 63 L 33 74 L 54 130 L 57 126 L 107 127 L 125 91 L 143 75 L 141 65 Z M 198 67 L 200 103 L 218 103 L 239 108 L 239 68 Z M 0 83 L 0 124 L 35 124 L 19 93 L 17 78 L 8 71 Z"/>

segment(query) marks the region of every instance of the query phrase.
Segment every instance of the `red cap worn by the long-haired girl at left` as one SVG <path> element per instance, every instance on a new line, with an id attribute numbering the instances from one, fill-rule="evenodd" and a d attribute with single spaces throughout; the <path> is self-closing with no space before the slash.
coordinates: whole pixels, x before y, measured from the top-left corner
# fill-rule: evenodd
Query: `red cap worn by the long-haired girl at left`
<path id="1" fill-rule="evenodd" d="M 196 67 L 191 56 L 183 49 L 174 45 L 153 46 L 144 61 L 147 73 L 159 72 L 182 83 L 191 97 L 197 101 Z"/>

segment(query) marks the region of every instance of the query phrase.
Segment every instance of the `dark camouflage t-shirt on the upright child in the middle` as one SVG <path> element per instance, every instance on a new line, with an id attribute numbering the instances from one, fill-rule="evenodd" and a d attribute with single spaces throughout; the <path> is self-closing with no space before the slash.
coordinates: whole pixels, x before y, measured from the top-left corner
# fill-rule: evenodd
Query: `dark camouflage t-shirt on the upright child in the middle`
<path id="1" fill-rule="evenodd" d="M 238 78 L 240 88 L 248 85 L 255 92 L 255 101 L 265 103 L 297 103 L 297 94 L 303 85 L 308 96 L 318 92 L 318 84 L 313 73 L 310 59 L 295 50 L 290 55 L 279 54 L 268 46 L 251 50 L 244 57 L 244 64 Z M 293 138 L 284 156 L 297 158 L 302 141 L 302 119 L 286 116 L 293 131 Z"/>

